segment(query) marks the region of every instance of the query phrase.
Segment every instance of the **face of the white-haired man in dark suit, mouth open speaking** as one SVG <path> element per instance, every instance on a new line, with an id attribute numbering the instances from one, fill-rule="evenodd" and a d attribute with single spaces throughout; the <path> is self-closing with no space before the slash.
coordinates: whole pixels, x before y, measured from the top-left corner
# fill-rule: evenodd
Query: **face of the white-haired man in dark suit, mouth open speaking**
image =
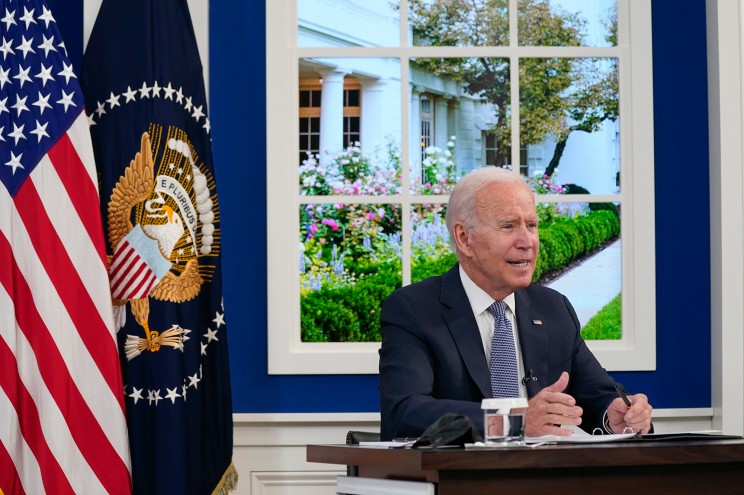
<path id="1" fill-rule="evenodd" d="M 494 299 L 527 287 L 540 240 L 535 197 L 524 184 L 491 184 L 476 198 L 478 225 L 458 225 L 461 263 L 468 276 Z"/>

